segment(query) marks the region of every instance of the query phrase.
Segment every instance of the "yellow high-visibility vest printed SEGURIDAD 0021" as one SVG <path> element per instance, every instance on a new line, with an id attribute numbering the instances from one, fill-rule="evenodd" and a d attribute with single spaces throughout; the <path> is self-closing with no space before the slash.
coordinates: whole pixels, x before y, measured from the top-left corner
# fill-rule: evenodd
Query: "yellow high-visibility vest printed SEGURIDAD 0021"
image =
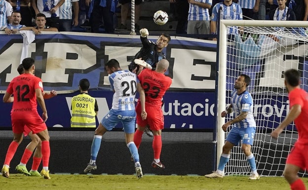
<path id="1" fill-rule="evenodd" d="M 86 93 L 72 98 L 71 127 L 96 127 L 95 98 Z"/>

